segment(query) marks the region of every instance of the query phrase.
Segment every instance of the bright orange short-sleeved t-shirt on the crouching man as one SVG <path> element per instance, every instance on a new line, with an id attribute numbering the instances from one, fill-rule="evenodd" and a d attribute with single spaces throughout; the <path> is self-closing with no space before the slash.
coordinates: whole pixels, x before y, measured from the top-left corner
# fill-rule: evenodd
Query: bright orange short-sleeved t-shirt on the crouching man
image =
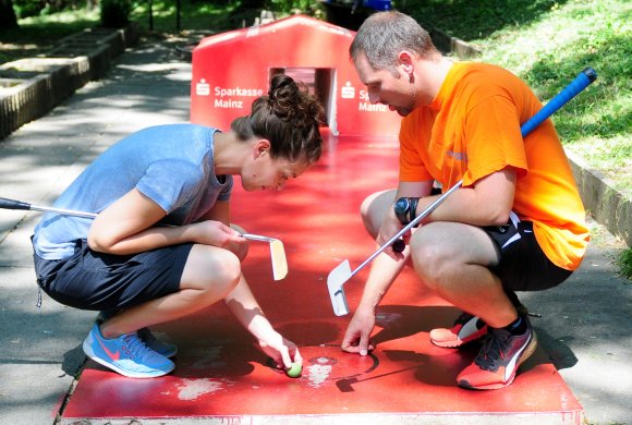
<path id="1" fill-rule="evenodd" d="M 579 267 L 588 242 L 585 210 L 550 120 L 524 139 L 520 125 L 542 109 L 515 75 L 499 66 L 459 62 L 433 104 L 402 120 L 400 181 L 436 180 L 448 190 L 511 167 L 513 211 L 533 221 L 538 244 L 558 267 Z"/>

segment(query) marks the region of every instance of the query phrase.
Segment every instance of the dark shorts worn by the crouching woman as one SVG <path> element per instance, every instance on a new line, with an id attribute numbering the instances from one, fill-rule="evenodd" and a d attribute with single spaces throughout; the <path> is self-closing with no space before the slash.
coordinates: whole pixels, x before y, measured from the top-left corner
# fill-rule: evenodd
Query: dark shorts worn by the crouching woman
<path id="1" fill-rule="evenodd" d="M 180 291 L 193 244 L 172 245 L 132 255 L 92 251 L 75 241 L 74 254 L 49 260 L 34 253 L 37 284 L 61 304 L 81 309 L 131 307 Z"/>

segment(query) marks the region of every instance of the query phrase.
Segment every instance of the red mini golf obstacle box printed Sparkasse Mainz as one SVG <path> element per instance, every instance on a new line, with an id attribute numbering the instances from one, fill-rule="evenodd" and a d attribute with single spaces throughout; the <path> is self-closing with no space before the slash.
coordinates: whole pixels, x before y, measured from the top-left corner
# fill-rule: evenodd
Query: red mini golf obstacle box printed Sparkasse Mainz
<path id="1" fill-rule="evenodd" d="M 204 38 L 193 50 L 191 122 L 228 129 L 287 73 L 320 99 L 331 134 L 397 136 L 400 118 L 372 105 L 349 58 L 355 32 L 295 15 Z"/>

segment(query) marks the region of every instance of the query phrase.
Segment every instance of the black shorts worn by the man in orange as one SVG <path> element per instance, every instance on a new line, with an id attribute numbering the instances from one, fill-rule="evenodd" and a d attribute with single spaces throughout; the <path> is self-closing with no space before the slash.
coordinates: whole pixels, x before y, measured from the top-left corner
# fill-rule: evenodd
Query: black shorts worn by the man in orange
<path id="1" fill-rule="evenodd" d="M 520 221 L 512 214 L 505 226 L 483 230 L 500 250 L 500 262 L 490 267 L 510 291 L 542 291 L 554 288 L 571 276 L 572 271 L 552 264 L 539 247 L 533 232 L 533 222 Z"/>

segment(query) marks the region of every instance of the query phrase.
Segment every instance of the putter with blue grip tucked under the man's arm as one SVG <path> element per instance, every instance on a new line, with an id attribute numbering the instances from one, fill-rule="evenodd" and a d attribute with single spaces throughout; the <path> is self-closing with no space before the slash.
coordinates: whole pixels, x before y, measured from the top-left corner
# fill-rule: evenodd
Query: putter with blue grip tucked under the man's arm
<path id="1" fill-rule="evenodd" d="M 542 124 L 547 118 L 549 118 L 555 111 L 564 106 L 569 100 L 579 95 L 584 88 L 586 88 L 591 83 L 597 78 L 597 73 L 592 68 L 586 68 L 582 71 L 575 80 L 573 80 L 568 86 L 566 86 L 560 93 L 558 93 L 546 106 L 544 106 L 535 116 L 527 120 L 524 124 L 520 126 L 522 137 L 524 138 L 530 134 L 535 127 Z M 356 269 L 351 270 L 351 265 L 349 259 L 343 260 L 333 270 L 329 272 L 327 277 L 327 290 L 329 291 L 329 298 L 331 299 L 331 306 L 333 307 L 333 314 L 337 316 L 344 316 L 349 314 L 349 304 L 347 303 L 347 296 L 344 295 L 344 283 L 351 279 L 355 274 L 362 270 L 366 265 L 368 265 L 377 255 L 384 252 L 386 248 L 391 246 L 393 243 L 400 241 L 400 238 L 414 228 L 418 222 L 421 222 L 426 216 L 433 212 L 452 192 L 461 187 L 463 181 L 459 181 L 450 190 L 439 196 L 433 204 L 430 204 L 420 216 L 402 228 L 396 235 L 388 240 L 384 245 L 381 245 L 375 253 L 373 253 L 364 263 L 362 263 Z M 401 243 L 400 247 L 401 247 Z M 398 250 L 399 251 L 399 250 Z M 403 251 L 403 248 L 402 248 Z"/>

